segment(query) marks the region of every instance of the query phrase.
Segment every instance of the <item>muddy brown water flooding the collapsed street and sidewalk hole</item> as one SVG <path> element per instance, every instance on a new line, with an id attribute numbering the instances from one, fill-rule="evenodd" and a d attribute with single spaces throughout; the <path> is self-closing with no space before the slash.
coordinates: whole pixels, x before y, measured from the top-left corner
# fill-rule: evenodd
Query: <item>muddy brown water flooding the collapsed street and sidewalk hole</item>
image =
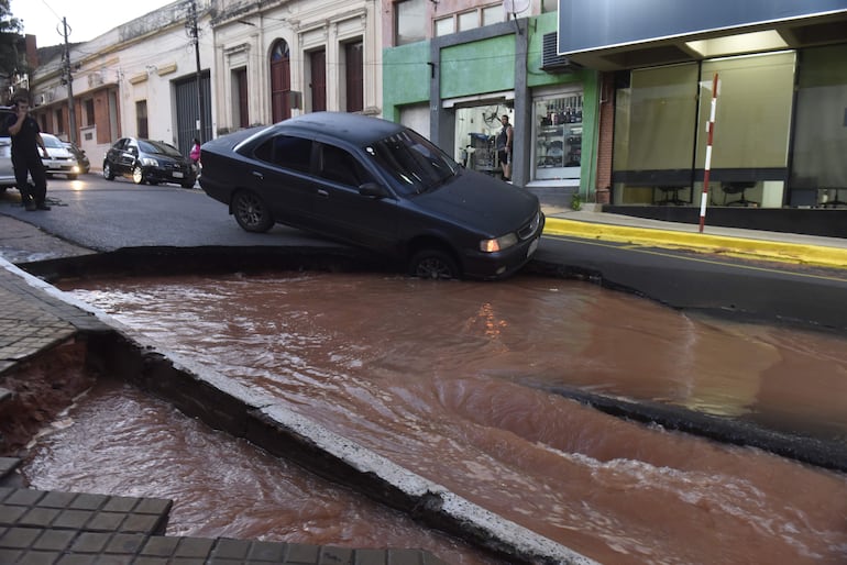
<path id="1" fill-rule="evenodd" d="M 847 562 L 844 474 L 544 391 L 576 387 L 840 439 L 844 337 L 529 277 L 231 275 L 75 281 L 72 291 L 602 563 Z M 34 487 L 173 498 L 169 533 L 497 563 L 127 386 L 99 385 L 54 428 L 24 469 Z"/>

